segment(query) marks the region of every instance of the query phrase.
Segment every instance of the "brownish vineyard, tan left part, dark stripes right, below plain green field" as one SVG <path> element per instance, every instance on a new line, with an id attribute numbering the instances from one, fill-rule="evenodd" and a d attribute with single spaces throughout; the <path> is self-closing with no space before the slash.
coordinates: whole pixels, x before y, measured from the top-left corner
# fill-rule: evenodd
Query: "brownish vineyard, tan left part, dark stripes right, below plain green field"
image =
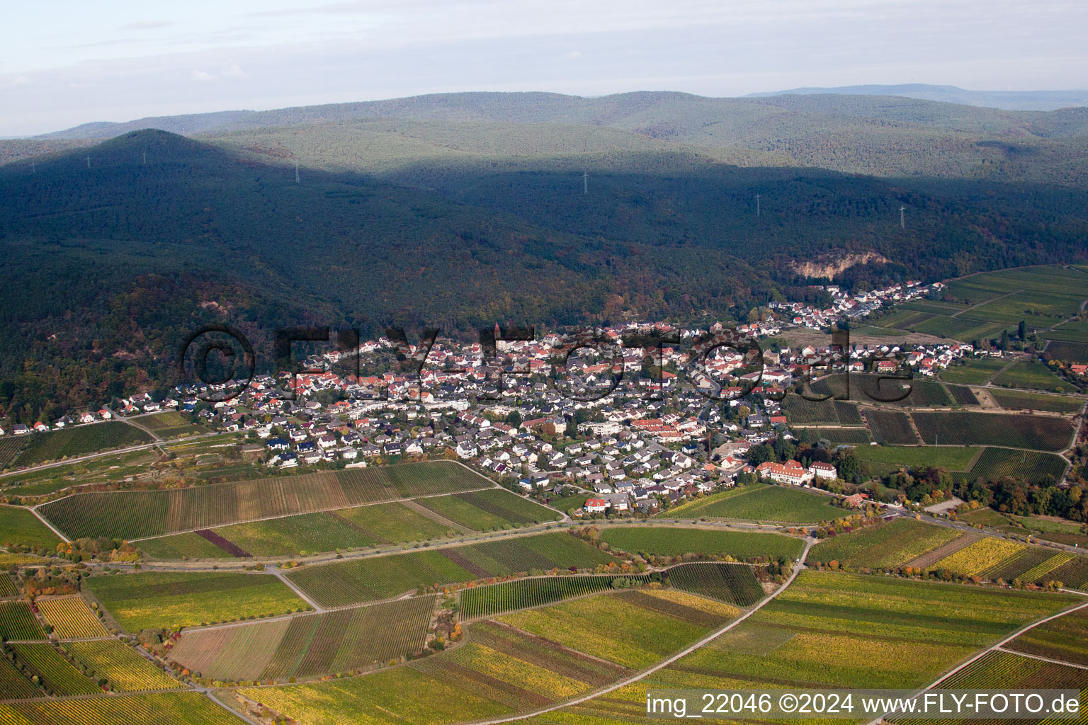
<path id="1" fill-rule="evenodd" d="M 435 597 L 182 635 L 170 659 L 202 677 L 286 680 L 384 664 L 423 648 Z"/>

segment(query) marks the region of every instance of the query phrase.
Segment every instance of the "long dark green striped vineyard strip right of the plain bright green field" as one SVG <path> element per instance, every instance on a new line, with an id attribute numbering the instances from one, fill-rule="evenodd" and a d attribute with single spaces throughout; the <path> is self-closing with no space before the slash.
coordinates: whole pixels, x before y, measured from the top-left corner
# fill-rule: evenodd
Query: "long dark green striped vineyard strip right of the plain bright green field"
<path id="1" fill-rule="evenodd" d="M 419 587 L 613 562 L 615 558 L 581 539 L 556 533 L 305 566 L 287 577 L 322 607 L 342 607 Z"/>

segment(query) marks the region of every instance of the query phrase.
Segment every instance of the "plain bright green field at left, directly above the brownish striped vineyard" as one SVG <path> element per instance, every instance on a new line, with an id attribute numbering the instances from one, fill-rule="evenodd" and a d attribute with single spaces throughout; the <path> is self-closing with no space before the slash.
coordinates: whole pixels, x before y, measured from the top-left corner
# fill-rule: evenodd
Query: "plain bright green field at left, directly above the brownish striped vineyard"
<path id="1" fill-rule="evenodd" d="M 309 609 L 270 574 L 143 572 L 91 576 L 85 586 L 125 632 L 177 629 Z"/>

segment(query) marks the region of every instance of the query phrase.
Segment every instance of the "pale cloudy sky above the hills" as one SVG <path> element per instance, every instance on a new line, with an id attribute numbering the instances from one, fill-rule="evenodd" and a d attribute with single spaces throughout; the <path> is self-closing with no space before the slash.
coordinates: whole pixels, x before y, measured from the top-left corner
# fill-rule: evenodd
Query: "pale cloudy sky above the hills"
<path id="1" fill-rule="evenodd" d="M 0 136 L 460 90 L 1088 88 L 1084 0 L 4 3 Z"/>

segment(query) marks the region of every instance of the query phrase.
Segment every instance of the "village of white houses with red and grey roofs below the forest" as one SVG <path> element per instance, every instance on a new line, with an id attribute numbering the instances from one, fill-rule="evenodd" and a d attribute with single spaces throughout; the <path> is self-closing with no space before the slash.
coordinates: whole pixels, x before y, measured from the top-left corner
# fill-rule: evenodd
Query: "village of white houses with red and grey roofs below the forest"
<path id="1" fill-rule="evenodd" d="M 772 304 L 775 313 L 764 321 L 735 330 L 716 325 L 710 333 L 775 338 L 791 326 L 825 328 L 844 315 L 864 316 L 934 289 L 906 283 L 846 297 L 832 286 L 827 288 L 836 299 L 831 309 Z M 692 360 L 688 348 L 706 332 L 665 324 L 651 327 L 657 339 L 679 342 L 618 346 L 646 329 L 628 323 L 598 330 L 597 343 L 579 340 L 574 347 L 584 345 L 589 354 L 576 361 L 576 350 L 564 360 L 566 380 L 548 375 L 561 349 L 558 335 L 499 341 L 491 361 L 479 342 L 438 340 L 422 350 L 381 337 L 358 349 L 357 364 L 381 371 L 369 375 L 344 374 L 337 368 L 345 353 L 325 352 L 302 364 L 321 372 L 257 375 L 230 401 L 206 402 L 213 392 L 209 386 L 178 386 L 166 396 L 129 396 L 51 425 L 16 425 L 11 434 L 178 411 L 217 432 L 242 432 L 244 452 L 270 468 L 363 467 L 447 455 L 539 498 L 584 493 L 579 515 L 650 515 L 730 487 L 742 475 L 826 487 L 838 475 L 827 461 L 803 466 L 793 460 L 749 460 L 753 446 L 795 440 L 781 404 L 784 395 L 820 375 L 848 371 L 930 376 L 975 353 L 954 341 L 904 349 L 853 346 L 848 362 L 829 348 L 776 345 L 753 370 L 761 361 L 751 352 L 725 345 Z M 609 343 L 621 352 L 602 360 Z M 421 372 L 405 371 L 397 352 L 407 360 L 425 358 Z"/>

